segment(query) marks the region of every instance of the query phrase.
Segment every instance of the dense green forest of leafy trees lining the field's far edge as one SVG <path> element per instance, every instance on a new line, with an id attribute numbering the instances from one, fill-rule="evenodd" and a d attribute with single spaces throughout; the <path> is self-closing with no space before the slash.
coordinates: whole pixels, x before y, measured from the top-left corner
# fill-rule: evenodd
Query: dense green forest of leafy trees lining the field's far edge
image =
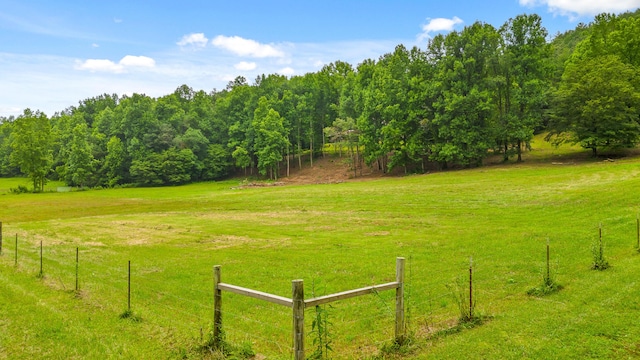
<path id="1" fill-rule="evenodd" d="M 640 142 L 640 11 L 549 34 L 538 15 L 476 22 L 356 67 L 238 77 L 220 91 L 104 94 L 0 118 L 0 176 L 157 186 L 312 166 L 325 144 L 382 171 L 521 160 L 536 132 L 591 149 Z"/>

